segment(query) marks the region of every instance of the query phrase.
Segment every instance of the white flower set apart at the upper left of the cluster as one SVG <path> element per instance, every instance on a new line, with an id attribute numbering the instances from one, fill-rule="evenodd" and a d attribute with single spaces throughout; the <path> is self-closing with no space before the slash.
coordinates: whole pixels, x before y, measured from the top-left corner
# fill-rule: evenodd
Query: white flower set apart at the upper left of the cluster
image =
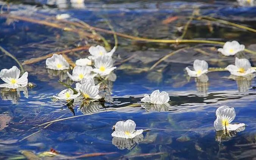
<path id="1" fill-rule="evenodd" d="M 61 54 L 53 54 L 52 57 L 46 59 L 46 67 L 52 70 L 67 70 L 69 63 Z"/>

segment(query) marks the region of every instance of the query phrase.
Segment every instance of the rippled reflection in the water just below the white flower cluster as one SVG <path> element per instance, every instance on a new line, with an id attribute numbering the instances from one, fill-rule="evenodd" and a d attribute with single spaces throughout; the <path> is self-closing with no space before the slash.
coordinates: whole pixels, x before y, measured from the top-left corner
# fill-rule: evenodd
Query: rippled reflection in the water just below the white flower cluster
<path id="1" fill-rule="evenodd" d="M 84 115 L 97 113 L 100 111 L 101 105 L 95 102 L 83 103 L 80 106 L 80 110 Z"/>

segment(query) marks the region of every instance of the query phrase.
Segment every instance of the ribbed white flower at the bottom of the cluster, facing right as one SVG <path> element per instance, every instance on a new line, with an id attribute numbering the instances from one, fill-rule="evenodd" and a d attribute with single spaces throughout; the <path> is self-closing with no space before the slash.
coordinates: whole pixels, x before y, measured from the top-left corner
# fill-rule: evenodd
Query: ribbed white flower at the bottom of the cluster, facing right
<path id="1" fill-rule="evenodd" d="M 95 82 L 92 78 L 84 78 L 82 79 L 81 83 L 76 83 L 75 90 L 80 92 L 84 98 L 98 99 L 101 98 L 100 95 L 98 95 L 98 87 L 99 86 L 95 85 Z"/>

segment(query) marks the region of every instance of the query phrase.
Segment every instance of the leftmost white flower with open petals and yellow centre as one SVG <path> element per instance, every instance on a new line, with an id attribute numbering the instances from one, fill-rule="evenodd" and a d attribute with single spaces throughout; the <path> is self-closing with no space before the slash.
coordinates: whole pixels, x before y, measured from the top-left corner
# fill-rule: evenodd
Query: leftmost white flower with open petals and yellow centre
<path id="1" fill-rule="evenodd" d="M 20 78 L 19 77 L 20 70 L 16 66 L 10 69 L 2 69 L 0 71 L 0 78 L 6 83 L 0 84 L 0 87 L 9 89 L 26 87 L 28 85 L 28 72 L 25 72 Z"/>

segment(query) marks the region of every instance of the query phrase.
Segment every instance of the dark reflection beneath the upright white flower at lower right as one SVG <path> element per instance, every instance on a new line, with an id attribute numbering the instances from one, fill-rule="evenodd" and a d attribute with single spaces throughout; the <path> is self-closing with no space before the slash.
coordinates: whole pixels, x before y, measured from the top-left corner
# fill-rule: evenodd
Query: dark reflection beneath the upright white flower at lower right
<path id="1" fill-rule="evenodd" d="M 237 130 L 234 131 L 228 131 L 223 132 L 223 130 L 217 131 L 216 135 L 215 135 L 215 140 L 218 142 L 222 142 L 222 141 L 229 141 L 231 140 L 232 137 L 235 137 L 237 133 L 242 132 L 245 130 L 245 126 L 243 127 L 239 127 Z"/>

